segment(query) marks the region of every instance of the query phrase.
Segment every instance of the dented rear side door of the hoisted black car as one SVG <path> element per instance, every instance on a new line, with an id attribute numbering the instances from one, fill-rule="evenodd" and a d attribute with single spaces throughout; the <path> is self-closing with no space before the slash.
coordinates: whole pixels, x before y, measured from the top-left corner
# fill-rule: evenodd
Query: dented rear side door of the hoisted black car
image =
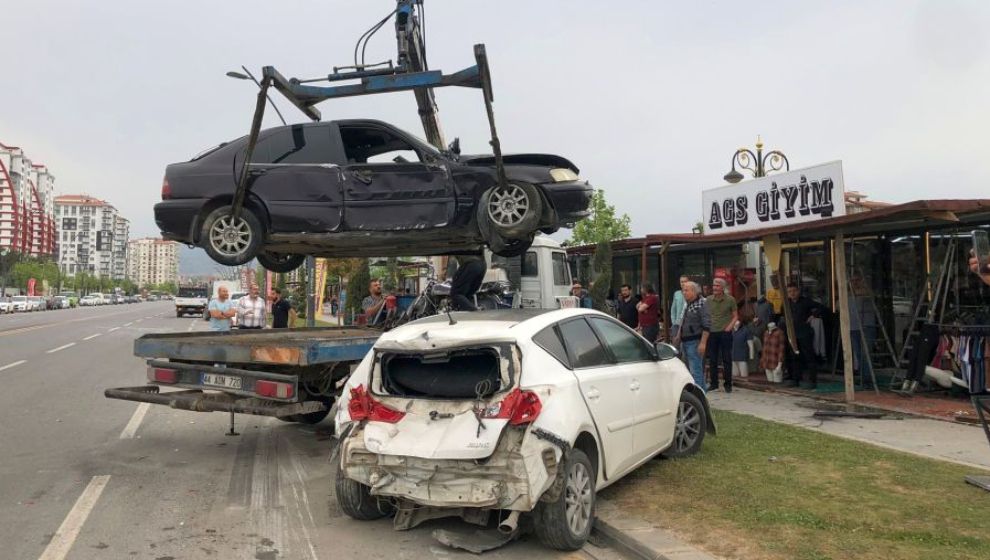
<path id="1" fill-rule="evenodd" d="M 268 207 L 273 232 L 333 232 L 340 228 L 339 139 L 326 123 L 276 129 L 258 141 L 249 167 L 251 192 Z M 240 169 L 244 151 L 234 160 Z M 236 173 L 234 175 L 237 176 Z"/>

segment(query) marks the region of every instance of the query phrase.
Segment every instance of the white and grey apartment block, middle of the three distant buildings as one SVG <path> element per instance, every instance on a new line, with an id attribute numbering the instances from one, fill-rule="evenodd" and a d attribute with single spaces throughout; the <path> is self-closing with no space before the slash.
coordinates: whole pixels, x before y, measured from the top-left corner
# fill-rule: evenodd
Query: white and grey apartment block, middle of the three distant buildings
<path id="1" fill-rule="evenodd" d="M 129 224 L 112 204 L 84 194 L 57 196 L 55 220 L 63 274 L 124 279 Z"/>

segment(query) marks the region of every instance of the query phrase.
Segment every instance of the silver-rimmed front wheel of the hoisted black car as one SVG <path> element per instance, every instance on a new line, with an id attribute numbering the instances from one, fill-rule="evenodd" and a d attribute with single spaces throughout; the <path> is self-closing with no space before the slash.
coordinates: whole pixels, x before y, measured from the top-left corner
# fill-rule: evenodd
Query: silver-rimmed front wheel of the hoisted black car
<path id="1" fill-rule="evenodd" d="M 535 185 L 515 181 L 485 191 L 478 211 L 479 223 L 488 224 L 491 233 L 508 240 L 525 239 L 540 224 L 543 198 Z"/>

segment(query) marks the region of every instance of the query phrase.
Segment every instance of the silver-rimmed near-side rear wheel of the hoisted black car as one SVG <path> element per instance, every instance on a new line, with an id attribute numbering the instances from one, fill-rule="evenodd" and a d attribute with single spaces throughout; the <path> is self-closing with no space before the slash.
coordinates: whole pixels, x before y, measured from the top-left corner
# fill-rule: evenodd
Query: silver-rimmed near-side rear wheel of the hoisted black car
<path id="1" fill-rule="evenodd" d="M 200 245 L 215 262 L 224 266 L 240 266 L 251 262 L 258 254 L 264 238 L 261 221 L 248 208 L 234 218 L 231 206 L 221 206 L 203 220 Z"/>

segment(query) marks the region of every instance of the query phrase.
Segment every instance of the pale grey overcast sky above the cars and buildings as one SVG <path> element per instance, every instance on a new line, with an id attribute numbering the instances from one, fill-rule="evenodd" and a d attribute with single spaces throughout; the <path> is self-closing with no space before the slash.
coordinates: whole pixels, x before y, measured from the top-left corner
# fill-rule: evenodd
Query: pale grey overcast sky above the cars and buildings
<path id="1" fill-rule="evenodd" d="M 7 0 L 0 142 L 48 164 L 60 193 L 104 198 L 133 237 L 154 235 L 165 165 L 249 128 L 256 90 L 224 72 L 326 74 L 393 7 Z M 390 26 L 369 61 L 395 58 Z M 758 134 L 792 168 L 841 159 L 846 188 L 873 199 L 990 198 L 986 0 L 427 0 L 426 26 L 434 69 L 487 45 L 503 150 L 570 158 L 636 235 L 689 231 L 701 190 Z M 480 93 L 437 97 L 448 139 L 485 151 Z M 411 93 L 320 109 L 422 135 Z"/>

